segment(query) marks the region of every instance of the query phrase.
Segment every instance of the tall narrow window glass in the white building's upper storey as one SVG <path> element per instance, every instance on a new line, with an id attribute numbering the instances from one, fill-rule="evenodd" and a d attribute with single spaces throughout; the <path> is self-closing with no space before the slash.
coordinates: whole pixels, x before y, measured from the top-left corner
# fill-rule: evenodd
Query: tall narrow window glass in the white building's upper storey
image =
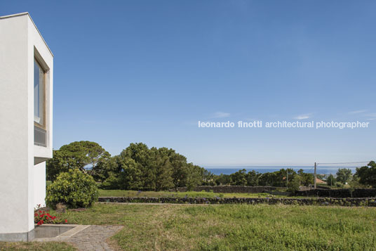
<path id="1" fill-rule="evenodd" d="M 44 71 L 34 59 L 34 122 L 44 125 Z"/>

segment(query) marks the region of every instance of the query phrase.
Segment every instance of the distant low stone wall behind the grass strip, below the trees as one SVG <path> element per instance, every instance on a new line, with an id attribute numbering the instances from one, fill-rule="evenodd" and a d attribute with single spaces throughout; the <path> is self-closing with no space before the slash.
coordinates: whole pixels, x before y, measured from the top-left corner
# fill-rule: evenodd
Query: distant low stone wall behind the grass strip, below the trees
<path id="1" fill-rule="evenodd" d="M 192 191 L 201 192 L 213 191 L 214 193 L 262 193 L 264 191 L 274 191 L 275 186 L 196 186 Z M 174 192 L 175 189 L 169 191 Z M 187 187 L 177 188 L 179 192 L 187 192 Z"/>

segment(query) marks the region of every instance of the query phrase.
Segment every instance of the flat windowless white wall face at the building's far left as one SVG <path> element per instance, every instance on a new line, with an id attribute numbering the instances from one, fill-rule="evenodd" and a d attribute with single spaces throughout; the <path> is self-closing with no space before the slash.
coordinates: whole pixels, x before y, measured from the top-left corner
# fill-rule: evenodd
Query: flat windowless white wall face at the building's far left
<path id="1" fill-rule="evenodd" d="M 0 233 L 30 231 L 27 15 L 0 20 Z"/>

